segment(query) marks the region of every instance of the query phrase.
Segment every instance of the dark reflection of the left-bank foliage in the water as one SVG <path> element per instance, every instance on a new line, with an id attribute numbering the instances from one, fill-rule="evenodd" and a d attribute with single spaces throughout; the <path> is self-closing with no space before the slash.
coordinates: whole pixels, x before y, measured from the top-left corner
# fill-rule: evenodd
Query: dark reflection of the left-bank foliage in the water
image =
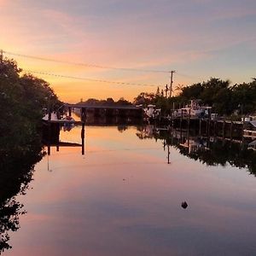
<path id="1" fill-rule="evenodd" d="M 37 136 L 9 134 L 0 137 L 0 254 L 11 248 L 9 231 L 20 228 L 20 215 L 26 213 L 16 199 L 25 195 L 32 180 L 33 167 L 42 159 Z"/>

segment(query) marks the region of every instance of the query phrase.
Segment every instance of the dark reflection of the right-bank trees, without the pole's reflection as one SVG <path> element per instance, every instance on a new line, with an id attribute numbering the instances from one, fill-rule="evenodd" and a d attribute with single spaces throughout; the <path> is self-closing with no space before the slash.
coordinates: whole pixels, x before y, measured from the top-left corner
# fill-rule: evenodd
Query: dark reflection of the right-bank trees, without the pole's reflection
<path id="1" fill-rule="evenodd" d="M 137 131 L 137 137 L 140 139 L 154 138 L 163 140 L 164 145 L 171 145 L 177 148 L 180 154 L 199 160 L 208 166 L 226 166 L 230 164 L 230 166 L 238 168 L 247 168 L 248 172 L 256 176 L 256 152 L 248 150 L 247 147 L 241 147 L 240 143 L 223 142 L 222 140 L 210 142 L 209 138 L 201 139 L 196 136 L 196 131 L 190 131 L 189 143 L 198 143 L 199 146 L 197 150 L 189 150 L 189 147 L 184 147 L 188 137 L 183 137 L 183 134 L 180 137 L 181 133 L 179 131 L 172 131 L 172 135 L 170 131 L 148 133 L 147 126 L 140 127 Z M 207 144 L 207 148 L 203 146 L 204 144 Z"/>

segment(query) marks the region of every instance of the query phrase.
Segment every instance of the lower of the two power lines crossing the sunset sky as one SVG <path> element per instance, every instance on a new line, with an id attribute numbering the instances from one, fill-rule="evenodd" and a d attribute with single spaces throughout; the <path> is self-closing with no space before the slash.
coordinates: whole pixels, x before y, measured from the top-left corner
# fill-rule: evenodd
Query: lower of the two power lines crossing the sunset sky
<path id="1" fill-rule="evenodd" d="M 23 71 L 26 72 L 26 73 L 38 73 L 38 74 L 57 77 L 57 78 L 86 80 L 86 81 L 107 83 L 107 84 L 127 84 L 127 85 L 140 85 L 140 86 L 154 86 L 154 87 L 159 86 L 159 85 L 156 85 L 156 84 L 125 83 L 125 82 L 108 81 L 108 80 L 102 80 L 102 79 L 79 78 L 79 77 L 66 76 L 66 75 L 61 75 L 61 74 L 56 74 L 56 73 L 48 73 L 48 72 L 41 72 L 41 71 L 33 71 L 33 70 L 23 70 Z"/>

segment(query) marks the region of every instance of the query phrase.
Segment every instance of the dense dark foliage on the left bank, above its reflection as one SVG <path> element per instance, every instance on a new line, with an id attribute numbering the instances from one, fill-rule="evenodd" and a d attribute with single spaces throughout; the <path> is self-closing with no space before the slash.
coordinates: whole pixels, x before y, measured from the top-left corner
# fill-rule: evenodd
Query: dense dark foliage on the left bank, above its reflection
<path id="1" fill-rule="evenodd" d="M 21 69 L 13 60 L 0 62 L 0 136 L 15 136 L 20 133 L 32 137 L 42 118 L 44 108 L 58 108 L 54 91 L 43 79 L 31 74 L 20 76 Z M 16 136 L 18 135 L 18 136 Z M 5 143 L 4 143 L 5 144 Z M 3 146 L 3 143 L 2 143 Z"/>

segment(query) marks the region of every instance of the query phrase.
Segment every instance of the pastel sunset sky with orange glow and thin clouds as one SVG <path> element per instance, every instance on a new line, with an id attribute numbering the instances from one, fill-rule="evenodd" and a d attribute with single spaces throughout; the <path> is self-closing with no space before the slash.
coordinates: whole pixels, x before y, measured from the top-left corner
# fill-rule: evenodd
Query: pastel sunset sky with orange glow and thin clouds
<path id="1" fill-rule="evenodd" d="M 255 0 L 0 0 L 0 49 L 62 101 L 132 101 L 164 89 L 172 70 L 174 88 L 250 82 L 255 24 Z"/>

